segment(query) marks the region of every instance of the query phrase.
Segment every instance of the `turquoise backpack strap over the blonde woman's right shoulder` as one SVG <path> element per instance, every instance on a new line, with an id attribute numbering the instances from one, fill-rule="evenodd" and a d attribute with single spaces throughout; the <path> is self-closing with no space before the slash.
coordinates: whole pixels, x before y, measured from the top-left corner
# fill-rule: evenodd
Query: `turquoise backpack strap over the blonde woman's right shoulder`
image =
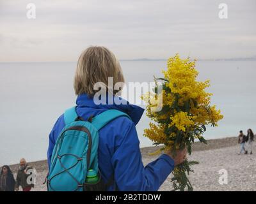
<path id="1" fill-rule="evenodd" d="M 131 117 L 129 117 L 129 115 L 127 115 L 126 113 L 121 112 L 120 110 L 109 109 L 93 117 L 92 124 L 99 131 L 110 121 L 121 116 L 128 117 L 131 120 Z"/>

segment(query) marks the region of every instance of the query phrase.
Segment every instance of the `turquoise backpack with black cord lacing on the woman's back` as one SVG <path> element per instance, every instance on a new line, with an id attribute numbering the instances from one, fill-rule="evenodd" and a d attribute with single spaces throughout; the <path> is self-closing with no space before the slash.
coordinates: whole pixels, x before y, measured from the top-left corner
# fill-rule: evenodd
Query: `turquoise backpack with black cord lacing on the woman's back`
<path id="1" fill-rule="evenodd" d="M 65 127 L 54 146 L 51 168 L 47 176 L 48 191 L 106 191 L 98 166 L 99 130 L 117 117 L 129 117 L 118 110 L 106 110 L 84 121 L 77 116 L 76 107 L 64 113 Z M 96 171 L 99 181 L 86 183 L 88 170 Z M 111 178 L 113 180 L 113 178 Z"/>

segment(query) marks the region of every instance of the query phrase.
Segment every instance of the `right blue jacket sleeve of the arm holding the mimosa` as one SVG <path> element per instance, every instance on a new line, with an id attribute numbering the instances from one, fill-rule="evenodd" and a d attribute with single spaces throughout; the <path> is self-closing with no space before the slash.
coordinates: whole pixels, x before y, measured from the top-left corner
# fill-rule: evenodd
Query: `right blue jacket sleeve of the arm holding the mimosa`
<path id="1" fill-rule="evenodd" d="M 111 163 L 119 191 L 157 191 L 174 168 L 173 159 L 166 154 L 143 166 L 140 141 L 132 122 Z"/>

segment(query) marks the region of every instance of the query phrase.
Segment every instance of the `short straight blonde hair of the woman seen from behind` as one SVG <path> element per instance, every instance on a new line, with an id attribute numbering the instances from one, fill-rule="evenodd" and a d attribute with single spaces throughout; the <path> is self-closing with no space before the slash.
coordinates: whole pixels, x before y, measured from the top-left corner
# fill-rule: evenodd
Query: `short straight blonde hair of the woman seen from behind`
<path id="1" fill-rule="evenodd" d="M 104 83 L 108 91 L 109 77 L 113 77 L 114 85 L 117 82 L 124 82 L 122 68 L 115 55 L 106 47 L 88 47 L 77 62 L 74 78 L 75 92 L 77 95 L 85 93 L 93 96 L 97 92 L 93 90 L 97 82 Z M 113 91 L 114 94 L 116 92 Z"/>

